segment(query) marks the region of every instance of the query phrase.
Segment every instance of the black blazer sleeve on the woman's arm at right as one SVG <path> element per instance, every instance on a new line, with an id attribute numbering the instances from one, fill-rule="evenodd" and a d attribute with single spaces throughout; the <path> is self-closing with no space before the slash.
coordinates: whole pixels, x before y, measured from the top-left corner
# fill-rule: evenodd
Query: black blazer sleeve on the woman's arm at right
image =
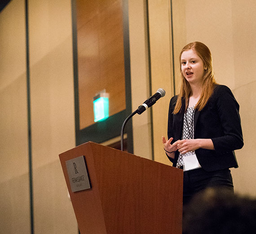
<path id="1" fill-rule="evenodd" d="M 239 104 L 230 88 L 220 85 L 214 90 L 216 109 L 221 120 L 223 136 L 212 138 L 216 152 L 225 153 L 243 147 Z"/>

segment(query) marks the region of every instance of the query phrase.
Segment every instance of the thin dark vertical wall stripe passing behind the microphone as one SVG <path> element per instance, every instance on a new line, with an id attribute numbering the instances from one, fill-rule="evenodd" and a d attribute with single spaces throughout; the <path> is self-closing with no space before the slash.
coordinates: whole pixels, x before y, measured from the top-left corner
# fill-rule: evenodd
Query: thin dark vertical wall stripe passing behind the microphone
<path id="1" fill-rule="evenodd" d="M 150 85 L 150 96 L 152 95 L 152 80 L 151 80 L 151 54 L 150 54 L 150 33 L 149 33 L 149 4 L 146 0 L 146 31 L 147 31 L 147 41 L 148 41 L 148 66 L 149 66 L 149 85 Z M 150 119 L 151 119 L 151 151 L 152 160 L 154 160 L 154 132 L 153 132 L 153 112 L 152 108 L 149 108 Z"/>

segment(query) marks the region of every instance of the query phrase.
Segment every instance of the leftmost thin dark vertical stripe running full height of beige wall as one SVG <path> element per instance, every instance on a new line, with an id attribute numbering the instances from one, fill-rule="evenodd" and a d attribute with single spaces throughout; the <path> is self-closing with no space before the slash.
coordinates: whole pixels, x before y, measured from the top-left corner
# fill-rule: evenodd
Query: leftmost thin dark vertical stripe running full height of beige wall
<path id="1" fill-rule="evenodd" d="M 30 188 L 30 191 L 29 191 L 29 194 L 30 194 L 30 222 L 31 222 L 31 234 L 34 234 L 28 0 L 25 0 L 25 20 L 26 20 L 26 88 L 27 88 L 27 126 L 28 126 L 28 165 L 29 165 L 29 188 Z"/>

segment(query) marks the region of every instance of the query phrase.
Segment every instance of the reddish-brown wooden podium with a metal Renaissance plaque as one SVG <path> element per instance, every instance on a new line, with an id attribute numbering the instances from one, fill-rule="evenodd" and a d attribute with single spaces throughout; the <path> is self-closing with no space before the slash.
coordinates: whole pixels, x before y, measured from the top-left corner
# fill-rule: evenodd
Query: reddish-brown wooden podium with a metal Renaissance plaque
<path id="1" fill-rule="evenodd" d="M 91 188 L 71 191 L 66 161 L 84 156 Z M 181 234 L 183 171 L 97 143 L 59 155 L 81 234 Z"/>

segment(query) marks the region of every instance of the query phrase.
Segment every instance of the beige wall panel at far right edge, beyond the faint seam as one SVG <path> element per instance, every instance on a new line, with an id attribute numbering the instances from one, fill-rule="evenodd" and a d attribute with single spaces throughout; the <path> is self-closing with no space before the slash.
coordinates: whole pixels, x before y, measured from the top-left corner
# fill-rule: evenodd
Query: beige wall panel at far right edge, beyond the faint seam
<path id="1" fill-rule="evenodd" d="M 232 1 L 233 2 L 233 1 Z M 244 147 L 236 152 L 239 168 L 232 169 L 235 191 L 256 196 L 252 178 L 256 177 L 255 100 L 256 78 L 252 61 L 256 61 L 256 2 L 233 2 L 232 4 L 233 49 L 234 49 L 234 95 L 240 104 Z"/>

